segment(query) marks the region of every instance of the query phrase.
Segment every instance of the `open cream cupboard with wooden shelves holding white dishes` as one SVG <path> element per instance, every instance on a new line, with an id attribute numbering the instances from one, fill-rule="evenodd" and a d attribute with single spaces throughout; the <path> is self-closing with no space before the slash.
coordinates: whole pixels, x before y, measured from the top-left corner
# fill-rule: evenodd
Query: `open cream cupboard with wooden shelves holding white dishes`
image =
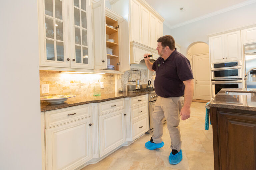
<path id="1" fill-rule="evenodd" d="M 117 71 L 130 70 L 127 20 L 105 8 L 104 0 L 92 5 L 92 18 L 94 68 L 106 69 L 108 65 L 114 65 Z M 112 49 L 112 53 L 107 54 L 107 48 Z"/>

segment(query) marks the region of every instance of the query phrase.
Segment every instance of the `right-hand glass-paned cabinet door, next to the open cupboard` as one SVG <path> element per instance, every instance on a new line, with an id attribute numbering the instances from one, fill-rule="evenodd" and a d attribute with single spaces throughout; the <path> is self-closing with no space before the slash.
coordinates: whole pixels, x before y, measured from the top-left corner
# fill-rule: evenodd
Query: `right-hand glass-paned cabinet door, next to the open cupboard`
<path id="1" fill-rule="evenodd" d="M 72 68 L 93 69 L 90 3 L 90 0 L 69 1 Z"/>

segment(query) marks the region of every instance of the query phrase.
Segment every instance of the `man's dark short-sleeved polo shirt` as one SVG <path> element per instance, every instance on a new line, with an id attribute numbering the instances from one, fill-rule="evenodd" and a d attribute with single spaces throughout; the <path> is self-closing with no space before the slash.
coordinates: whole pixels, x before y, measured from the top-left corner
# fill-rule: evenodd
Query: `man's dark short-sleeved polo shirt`
<path id="1" fill-rule="evenodd" d="M 156 71 L 155 91 L 161 97 L 179 97 L 184 95 L 183 81 L 193 79 L 189 60 L 175 51 L 164 61 L 162 57 L 153 63 Z"/>

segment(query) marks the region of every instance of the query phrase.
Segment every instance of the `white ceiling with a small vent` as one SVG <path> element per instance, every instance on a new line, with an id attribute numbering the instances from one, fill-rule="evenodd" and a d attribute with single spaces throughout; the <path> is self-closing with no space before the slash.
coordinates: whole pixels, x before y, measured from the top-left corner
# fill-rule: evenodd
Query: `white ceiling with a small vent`
<path id="1" fill-rule="evenodd" d="M 170 29 L 255 3 L 256 0 L 145 0 Z M 185 10 L 180 11 L 183 7 Z"/>

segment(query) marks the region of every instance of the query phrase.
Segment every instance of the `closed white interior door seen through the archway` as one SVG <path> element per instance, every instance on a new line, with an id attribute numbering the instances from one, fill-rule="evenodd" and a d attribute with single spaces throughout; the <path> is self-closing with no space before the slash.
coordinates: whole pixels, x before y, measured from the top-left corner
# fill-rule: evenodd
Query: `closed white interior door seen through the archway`
<path id="1" fill-rule="evenodd" d="M 194 55 L 194 78 L 196 81 L 196 99 L 210 100 L 210 63 L 209 54 Z"/>

